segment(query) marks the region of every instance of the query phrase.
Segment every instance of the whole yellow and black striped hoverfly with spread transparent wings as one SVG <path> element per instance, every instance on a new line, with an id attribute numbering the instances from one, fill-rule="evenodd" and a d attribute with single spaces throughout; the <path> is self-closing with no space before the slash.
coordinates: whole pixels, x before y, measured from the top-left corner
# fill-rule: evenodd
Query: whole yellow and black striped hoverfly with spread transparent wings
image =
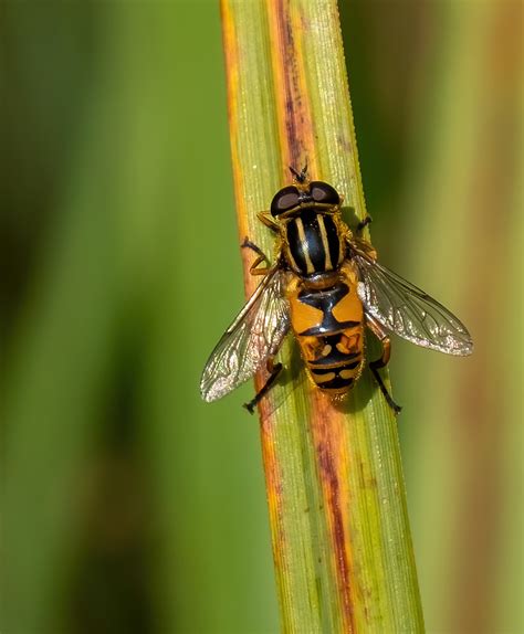
<path id="1" fill-rule="evenodd" d="M 259 213 L 276 234 L 277 255 L 270 264 L 248 239 L 242 244 L 256 253 L 250 271 L 262 282 L 212 351 L 200 382 L 202 398 L 221 399 L 265 364 L 265 384 L 244 405 L 253 413 L 282 370 L 274 359 L 290 329 L 314 383 L 344 394 L 361 374 L 368 328 L 382 350 L 369 369 L 398 413 L 378 372 L 389 361 L 389 334 L 459 356 L 471 355 L 471 336 L 441 304 L 377 262 L 361 237 L 369 216 L 352 232 L 335 188 L 310 180 L 307 166 L 290 170 L 293 184 L 276 192 L 269 212 Z"/>

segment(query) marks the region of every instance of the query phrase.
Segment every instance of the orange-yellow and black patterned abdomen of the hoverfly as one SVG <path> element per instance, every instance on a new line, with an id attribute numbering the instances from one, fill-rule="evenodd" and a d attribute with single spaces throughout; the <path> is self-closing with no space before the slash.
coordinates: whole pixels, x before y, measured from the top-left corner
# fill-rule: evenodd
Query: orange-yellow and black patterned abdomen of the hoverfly
<path id="1" fill-rule="evenodd" d="M 364 364 L 364 310 L 357 277 L 347 263 L 328 288 L 295 277 L 287 289 L 291 325 L 312 379 L 322 390 L 343 393 Z"/>

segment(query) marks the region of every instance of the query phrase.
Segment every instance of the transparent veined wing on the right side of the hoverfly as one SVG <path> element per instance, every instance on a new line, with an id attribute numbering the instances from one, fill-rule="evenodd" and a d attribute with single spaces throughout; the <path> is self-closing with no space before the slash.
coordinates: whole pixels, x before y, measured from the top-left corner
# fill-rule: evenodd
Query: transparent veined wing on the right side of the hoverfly
<path id="1" fill-rule="evenodd" d="M 352 245 L 365 310 L 399 337 L 448 355 L 467 356 L 473 341 L 465 326 L 436 299 Z"/>

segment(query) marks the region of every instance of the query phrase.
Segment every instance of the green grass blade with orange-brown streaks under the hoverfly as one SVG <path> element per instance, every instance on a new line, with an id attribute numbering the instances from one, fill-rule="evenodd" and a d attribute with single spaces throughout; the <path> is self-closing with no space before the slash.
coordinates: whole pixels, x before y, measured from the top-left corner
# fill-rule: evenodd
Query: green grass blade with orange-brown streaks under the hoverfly
<path id="1" fill-rule="evenodd" d="M 256 212 L 306 160 L 363 218 L 336 3 L 223 0 L 222 23 L 239 239 L 272 252 Z M 282 360 L 260 414 L 284 631 L 423 631 L 395 418 L 367 371 L 335 408 Z"/>

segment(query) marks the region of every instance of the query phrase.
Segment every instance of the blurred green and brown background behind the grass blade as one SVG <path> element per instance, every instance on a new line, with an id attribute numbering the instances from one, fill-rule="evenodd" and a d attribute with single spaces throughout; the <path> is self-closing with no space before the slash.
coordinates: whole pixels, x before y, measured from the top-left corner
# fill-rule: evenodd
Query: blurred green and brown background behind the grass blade
<path id="1" fill-rule="evenodd" d="M 429 632 L 524 631 L 522 4 L 343 0 L 374 242 L 470 327 L 391 374 Z M 0 4 L 2 634 L 277 632 L 219 9 Z"/>

